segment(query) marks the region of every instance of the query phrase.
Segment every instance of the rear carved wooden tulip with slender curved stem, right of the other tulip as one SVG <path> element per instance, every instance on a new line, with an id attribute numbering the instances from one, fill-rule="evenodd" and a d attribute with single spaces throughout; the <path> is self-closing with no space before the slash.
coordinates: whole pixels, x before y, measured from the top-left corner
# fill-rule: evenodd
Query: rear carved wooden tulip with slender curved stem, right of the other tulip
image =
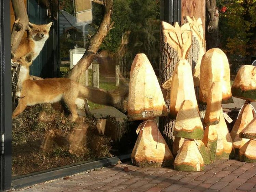
<path id="1" fill-rule="evenodd" d="M 193 69 L 194 86 L 200 85 L 200 65 L 203 55 L 205 54 L 205 39 L 204 39 L 204 28 L 202 25 L 201 18 L 196 19 L 195 17 L 186 16 L 186 19 L 190 25 L 192 35 L 196 37 L 199 43 L 199 53 L 197 58 L 197 63 Z"/>

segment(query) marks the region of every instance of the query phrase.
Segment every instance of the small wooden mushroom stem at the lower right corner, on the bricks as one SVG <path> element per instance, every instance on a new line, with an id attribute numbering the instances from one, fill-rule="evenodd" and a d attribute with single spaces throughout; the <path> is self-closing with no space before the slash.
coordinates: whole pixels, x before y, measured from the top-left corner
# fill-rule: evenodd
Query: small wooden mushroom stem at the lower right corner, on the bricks
<path id="1" fill-rule="evenodd" d="M 256 163 L 256 141 L 250 140 L 239 150 L 239 161 Z"/>

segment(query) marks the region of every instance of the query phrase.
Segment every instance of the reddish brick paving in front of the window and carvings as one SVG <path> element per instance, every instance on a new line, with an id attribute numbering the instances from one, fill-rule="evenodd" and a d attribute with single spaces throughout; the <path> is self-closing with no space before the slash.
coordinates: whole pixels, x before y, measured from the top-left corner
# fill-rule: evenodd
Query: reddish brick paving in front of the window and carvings
<path id="1" fill-rule="evenodd" d="M 124 167 L 129 170 L 124 171 Z M 126 168 L 126 169 L 127 169 Z M 40 183 L 19 191 L 94 192 L 256 192 L 256 164 L 238 160 L 216 160 L 202 172 L 180 172 L 170 167 L 140 168 L 131 162 L 92 172 Z"/>

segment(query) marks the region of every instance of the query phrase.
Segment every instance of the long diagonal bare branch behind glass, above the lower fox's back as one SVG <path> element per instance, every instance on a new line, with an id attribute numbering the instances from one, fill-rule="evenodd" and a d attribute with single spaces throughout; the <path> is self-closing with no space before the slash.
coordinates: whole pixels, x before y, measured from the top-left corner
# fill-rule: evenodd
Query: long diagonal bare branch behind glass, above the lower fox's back
<path id="1" fill-rule="evenodd" d="M 79 62 L 70 70 L 67 77 L 77 81 L 81 74 L 88 69 L 91 62 L 96 56 L 96 53 L 104 40 L 105 36 L 111 30 L 111 14 L 113 7 L 113 0 L 103 0 L 104 4 L 104 17 L 96 34 L 90 39 L 89 45 Z"/>

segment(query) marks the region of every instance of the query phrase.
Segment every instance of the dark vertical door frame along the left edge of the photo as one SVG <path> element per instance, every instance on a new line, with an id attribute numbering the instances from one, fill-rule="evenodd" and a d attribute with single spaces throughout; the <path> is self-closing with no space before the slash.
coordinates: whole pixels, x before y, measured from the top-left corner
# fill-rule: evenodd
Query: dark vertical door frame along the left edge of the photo
<path id="1" fill-rule="evenodd" d="M 0 1 L 0 134 L 4 134 L 4 153 L 0 154 L 0 191 L 11 188 L 12 176 L 10 22 L 10 1 Z"/>

